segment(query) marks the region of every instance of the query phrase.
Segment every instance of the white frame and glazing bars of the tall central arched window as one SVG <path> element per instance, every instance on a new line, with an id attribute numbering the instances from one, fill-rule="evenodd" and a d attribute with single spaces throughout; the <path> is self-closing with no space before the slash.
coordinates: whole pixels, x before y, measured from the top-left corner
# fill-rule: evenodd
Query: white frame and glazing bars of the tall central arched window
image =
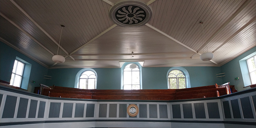
<path id="1" fill-rule="evenodd" d="M 131 64 L 135 64 L 136 68 L 138 68 L 139 71 L 132 71 L 132 69 L 131 69 L 131 71 L 124 71 L 125 68 L 129 68 L 127 66 L 131 65 Z M 124 84 L 124 74 L 125 74 L 125 72 L 131 72 L 131 80 L 132 80 L 132 72 L 139 72 L 139 84 L 133 84 L 132 81 L 131 81 L 131 84 Z M 140 87 L 139 90 L 142 89 L 142 79 L 141 79 L 142 76 L 141 75 L 142 75 L 142 71 L 141 71 L 141 67 L 140 67 L 139 64 L 137 64 L 137 63 L 127 63 L 127 64 L 123 65 L 123 69 L 122 69 L 122 78 L 123 79 L 122 79 L 121 89 L 126 90 L 126 89 L 124 89 L 125 85 L 131 85 L 131 90 L 137 90 L 137 89 L 133 89 L 132 85 L 139 85 L 139 87 Z"/>

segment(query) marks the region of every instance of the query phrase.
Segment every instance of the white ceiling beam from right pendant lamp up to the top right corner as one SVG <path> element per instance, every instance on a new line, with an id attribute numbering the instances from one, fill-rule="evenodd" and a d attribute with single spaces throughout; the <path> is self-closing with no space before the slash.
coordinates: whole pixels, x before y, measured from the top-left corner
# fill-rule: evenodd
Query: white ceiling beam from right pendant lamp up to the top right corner
<path id="1" fill-rule="evenodd" d="M 252 0 L 246 0 L 234 14 L 197 50 L 200 52 L 219 32 L 221 32 Z M 216 50 L 215 50 L 216 51 Z"/>

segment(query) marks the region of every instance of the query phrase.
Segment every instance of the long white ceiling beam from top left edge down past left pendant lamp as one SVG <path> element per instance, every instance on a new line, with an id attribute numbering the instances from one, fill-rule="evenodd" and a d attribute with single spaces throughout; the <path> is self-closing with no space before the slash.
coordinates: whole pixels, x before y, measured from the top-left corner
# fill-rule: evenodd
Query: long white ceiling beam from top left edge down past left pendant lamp
<path id="1" fill-rule="evenodd" d="M 57 46 L 59 46 L 59 43 L 57 41 L 55 41 L 41 26 L 38 25 L 37 22 L 35 22 L 35 20 L 33 20 L 29 14 L 27 14 L 17 3 L 15 3 L 15 1 L 13 0 L 10 0 L 12 2 L 12 4 L 14 4 L 24 15 L 27 16 L 27 18 L 29 18 L 31 20 L 31 22 L 33 22 L 43 33 L 45 33 Z M 62 49 L 67 55 L 68 55 L 68 52 L 62 48 L 60 46 L 60 49 Z M 54 54 L 53 54 L 54 55 Z M 68 55 L 69 56 L 69 55 Z M 73 57 L 69 56 L 72 60 L 74 60 Z"/>

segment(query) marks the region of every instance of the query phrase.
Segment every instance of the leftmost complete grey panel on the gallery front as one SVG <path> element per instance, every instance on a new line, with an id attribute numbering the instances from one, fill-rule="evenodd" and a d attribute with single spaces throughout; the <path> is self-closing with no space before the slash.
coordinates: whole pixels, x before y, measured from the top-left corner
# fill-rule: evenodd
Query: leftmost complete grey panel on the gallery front
<path id="1" fill-rule="evenodd" d="M 2 118 L 13 118 L 15 107 L 16 107 L 17 97 L 7 95 L 4 105 L 4 112 Z"/>

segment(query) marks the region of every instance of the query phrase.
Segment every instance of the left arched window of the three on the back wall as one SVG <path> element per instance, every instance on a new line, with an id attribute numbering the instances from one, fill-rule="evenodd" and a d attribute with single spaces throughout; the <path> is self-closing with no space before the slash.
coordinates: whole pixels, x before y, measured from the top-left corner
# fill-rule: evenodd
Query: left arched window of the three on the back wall
<path id="1" fill-rule="evenodd" d="M 84 71 L 79 78 L 79 89 L 96 89 L 96 74 L 93 71 Z"/>

